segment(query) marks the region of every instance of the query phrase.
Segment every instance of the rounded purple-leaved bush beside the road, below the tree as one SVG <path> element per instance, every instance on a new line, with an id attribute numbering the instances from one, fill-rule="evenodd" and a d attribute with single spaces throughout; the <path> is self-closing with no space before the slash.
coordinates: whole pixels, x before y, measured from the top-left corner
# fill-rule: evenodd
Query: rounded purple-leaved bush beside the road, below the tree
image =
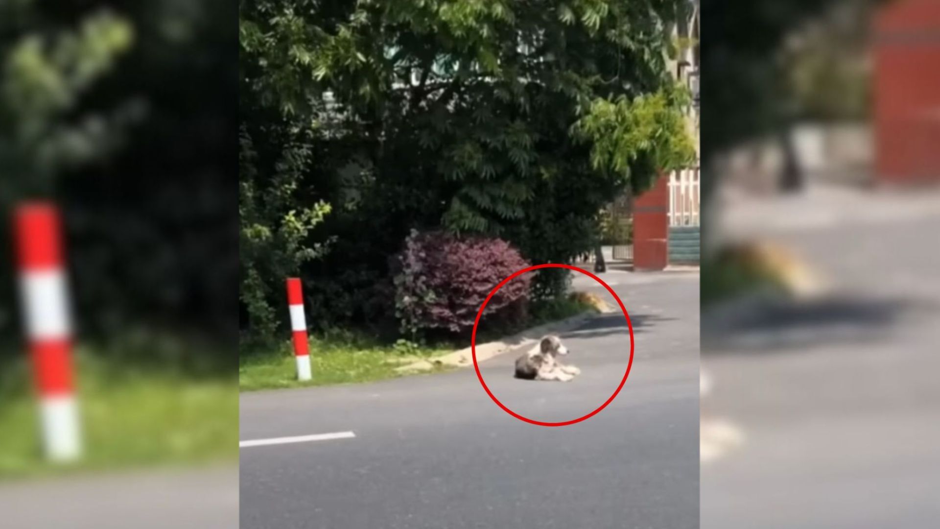
<path id="1" fill-rule="evenodd" d="M 401 332 L 473 328 L 479 306 L 493 287 L 529 264 L 501 239 L 459 238 L 446 232 L 412 231 L 396 259 L 395 306 Z M 509 281 L 490 299 L 484 315 L 512 324 L 525 321 L 531 278 Z"/>

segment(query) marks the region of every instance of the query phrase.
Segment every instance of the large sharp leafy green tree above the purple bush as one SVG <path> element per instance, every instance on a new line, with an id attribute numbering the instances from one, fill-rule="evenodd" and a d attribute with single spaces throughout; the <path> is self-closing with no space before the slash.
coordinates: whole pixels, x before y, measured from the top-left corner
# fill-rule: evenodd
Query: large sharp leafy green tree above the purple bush
<path id="1" fill-rule="evenodd" d="M 348 293 L 383 281 L 413 228 L 500 236 L 534 263 L 592 248 L 604 203 L 692 155 L 666 68 L 685 7 L 243 2 L 243 49 L 269 57 L 255 97 L 320 130 L 305 186 L 333 206 L 315 236 L 336 242 L 307 270 L 348 288 L 314 305 L 363 317 Z"/>

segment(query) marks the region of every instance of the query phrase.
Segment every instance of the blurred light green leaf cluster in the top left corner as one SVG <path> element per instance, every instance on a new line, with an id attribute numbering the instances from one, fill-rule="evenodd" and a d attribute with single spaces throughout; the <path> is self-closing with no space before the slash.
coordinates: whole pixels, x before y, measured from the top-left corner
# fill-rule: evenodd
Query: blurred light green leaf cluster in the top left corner
<path id="1" fill-rule="evenodd" d="M 9 35 L 5 25 L 0 17 L 0 35 Z M 133 35 L 128 19 L 99 10 L 74 29 L 0 37 L 0 168 L 20 177 L 4 178 L 0 196 L 49 194 L 62 169 L 112 151 L 133 108 L 70 114 L 129 50 Z"/>

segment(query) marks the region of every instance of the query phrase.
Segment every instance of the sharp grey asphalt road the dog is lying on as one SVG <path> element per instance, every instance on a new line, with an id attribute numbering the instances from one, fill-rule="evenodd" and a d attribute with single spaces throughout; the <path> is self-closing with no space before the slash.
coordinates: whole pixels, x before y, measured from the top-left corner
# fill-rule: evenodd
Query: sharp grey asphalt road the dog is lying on
<path id="1" fill-rule="evenodd" d="M 352 431 L 351 439 L 242 449 L 243 529 L 698 527 L 698 275 L 610 271 L 635 360 L 606 409 L 544 427 L 496 407 L 475 372 L 241 397 L 241 439 Z M 578 289 L 603 292 L 590 280 Z M 622 316 L 562 334 L 582 375 L 512 378 L 481 365 L 510 409 L 570 420 L 613 393 L 629 357 Z"/>

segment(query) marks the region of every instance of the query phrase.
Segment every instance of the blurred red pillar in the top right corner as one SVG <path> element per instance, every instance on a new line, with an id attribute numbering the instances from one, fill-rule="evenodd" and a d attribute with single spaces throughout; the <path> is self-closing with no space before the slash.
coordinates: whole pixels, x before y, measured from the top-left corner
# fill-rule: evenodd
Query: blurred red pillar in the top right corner
<path id="1" fill-rule="evenodd" d="M 940 183 L 940 2 L 886 4 L 874 37 L 877 180 Z"/>

